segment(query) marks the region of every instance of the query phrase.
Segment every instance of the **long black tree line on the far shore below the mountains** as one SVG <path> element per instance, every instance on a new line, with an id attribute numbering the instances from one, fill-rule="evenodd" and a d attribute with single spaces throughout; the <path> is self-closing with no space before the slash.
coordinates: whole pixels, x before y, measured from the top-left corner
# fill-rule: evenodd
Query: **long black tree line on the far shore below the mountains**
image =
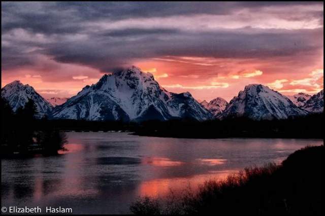
<path id="1" fill-rule="evenodd" d="M 38 127 L 54 127 L 75 131 L 131 131 L 136 135 L 179 138 L 323 138 L 323 113 L 310 114 L 285 120 L 255 121 L 248 118 L 194 121 L 178 119 L 169 121 L 87 121 L 38 120 Z"/>

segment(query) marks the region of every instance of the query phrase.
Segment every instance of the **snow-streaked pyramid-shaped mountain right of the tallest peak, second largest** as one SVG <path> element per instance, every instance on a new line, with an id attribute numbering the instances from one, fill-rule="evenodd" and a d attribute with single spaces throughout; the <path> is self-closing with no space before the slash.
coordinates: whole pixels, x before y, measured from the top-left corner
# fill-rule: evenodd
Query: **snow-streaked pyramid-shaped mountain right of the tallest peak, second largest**
<path id="1" fill-rule="evenodd" d="M 286 119 L 290 116 L 308 114 L 291 100 L 277 91 L 260 84 L 245 86 L 237 97 L 234 97 L 221 118 L 248 117 L 254 120 Z"/>

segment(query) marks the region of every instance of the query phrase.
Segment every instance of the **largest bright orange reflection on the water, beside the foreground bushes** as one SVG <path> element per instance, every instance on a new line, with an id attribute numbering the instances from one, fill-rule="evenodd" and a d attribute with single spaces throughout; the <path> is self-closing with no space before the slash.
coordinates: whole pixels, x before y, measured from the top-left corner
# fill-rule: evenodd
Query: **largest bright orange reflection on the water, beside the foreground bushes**
<path id="1" fill-rule="evenodd" d="M 181 192 L 188 188 L 188 186 L 192 191 L 196 191 L 199 185 L 203 184 L 205 181 L 211 179 L 221 180 L 226 178 L 229 174 L 237 171 L 238 170 L 212 171 L 208 174 L 200 174 L 190 177 L 153 179 L 140 184 L 138 195 L 164 197 L 167 196 L 170 191 L 173 191 L 173 193 Z"/>

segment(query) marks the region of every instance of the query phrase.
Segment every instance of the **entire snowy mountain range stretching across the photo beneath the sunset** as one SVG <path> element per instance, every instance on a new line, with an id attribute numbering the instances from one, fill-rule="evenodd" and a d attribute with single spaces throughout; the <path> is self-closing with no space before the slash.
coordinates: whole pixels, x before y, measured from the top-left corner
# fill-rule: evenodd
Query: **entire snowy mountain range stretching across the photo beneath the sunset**
<path id="1" fill-rule="evenodd" d="M 89 121 L 146 121 L 225 119 L 248 117 L 254 120 L 286 119 L 323 112 L 323 90 L 310 96 L 284 96 L 261 84 L 250 84 L 229 103 L 217 97 L 199 103 L 189 92 L 173 93 L 161 87 L 150 73 L 132 66 L 98 83 L 85 86 L 71 98 L 44 99 L 31 86 L 14 81 L 2 88 L 1 96 L 16 111 L 28 99 L 34 100 L 38 118 L 82 119 Z"/>

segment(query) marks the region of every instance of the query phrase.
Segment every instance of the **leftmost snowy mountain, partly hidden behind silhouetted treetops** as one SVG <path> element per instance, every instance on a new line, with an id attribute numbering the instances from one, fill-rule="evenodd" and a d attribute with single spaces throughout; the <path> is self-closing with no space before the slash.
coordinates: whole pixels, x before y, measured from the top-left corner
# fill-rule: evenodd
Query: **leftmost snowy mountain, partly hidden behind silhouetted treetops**
<path id="1" fill-rule="evenodd" d="M 48 115 L 53 109 L 53 106 L 39 95 L 33 87 L 28 84 L 23 85 L 18 80 L 2 88 L 1 97 L 8 100 L 14 112 L 16 112 L 19 107 L 25 106 L 28 99 L 32 99 L 37 107 L 37 118 L 42 118 L 45 114 Z"/>

